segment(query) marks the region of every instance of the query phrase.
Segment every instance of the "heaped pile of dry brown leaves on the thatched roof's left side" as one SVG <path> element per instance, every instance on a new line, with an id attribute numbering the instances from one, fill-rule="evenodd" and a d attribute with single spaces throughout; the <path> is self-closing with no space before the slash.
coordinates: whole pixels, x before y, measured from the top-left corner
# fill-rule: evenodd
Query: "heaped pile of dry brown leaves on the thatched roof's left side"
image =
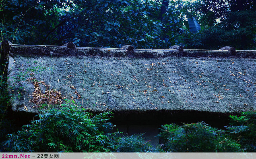
<path id="1" fill-rule="evenodd" d="M 43 103 L 49 103 L 49 104 L 61 104 L 63 99 L 61 97 L 61 92 L 56 91 L 56 89 L 48 90 L 49 85 L 46 85 L 44 81 L 37 81 L 35 78 L 29 78 L 27 81 L 32 81 L 33 85 L 35 86 L 35 91 L 32 93 L 33 99 L 30 99 L 29 102 L 33 102 L 35 104 L 43 104 Z M 39 84 L 43 84 L 46 86 L 46 91 L 43 94 L 40 89 Z"/>

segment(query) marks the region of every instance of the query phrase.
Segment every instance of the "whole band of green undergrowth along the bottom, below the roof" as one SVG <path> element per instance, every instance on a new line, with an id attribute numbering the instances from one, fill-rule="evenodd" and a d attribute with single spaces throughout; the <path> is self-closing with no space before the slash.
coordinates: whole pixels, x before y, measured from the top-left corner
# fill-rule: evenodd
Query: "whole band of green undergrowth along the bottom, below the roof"
<path id="1" fill-rule="evenodd" d="M 74 107 L 42 111 L 31 124 L 6 136 L 8 152 L 255 152 L 256 112 L 230 116 L 231 124 L 219 130 L 204 122 L 173 123 L 160 128 L 159 145 L 143 134 L 112 132 L 112 113 L 93 115 Z M 5 133 L 6 134 L 6 133 Z"/>

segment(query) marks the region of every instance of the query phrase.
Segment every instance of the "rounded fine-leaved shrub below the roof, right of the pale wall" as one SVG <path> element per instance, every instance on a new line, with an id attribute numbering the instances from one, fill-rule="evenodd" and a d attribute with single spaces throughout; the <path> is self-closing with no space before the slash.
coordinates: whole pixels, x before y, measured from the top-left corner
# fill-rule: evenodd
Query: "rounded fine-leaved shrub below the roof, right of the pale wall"
<path id="1" fill-rule="evenodd" d="M 204 122 L 182 126 L 174 123 L 162 126 L 161 130 L 158 137 L 164 144 L 163 150 L 167 152 L 237 152 L 240 148 L 235 141 L 224 137 L 224 130 Z"/>

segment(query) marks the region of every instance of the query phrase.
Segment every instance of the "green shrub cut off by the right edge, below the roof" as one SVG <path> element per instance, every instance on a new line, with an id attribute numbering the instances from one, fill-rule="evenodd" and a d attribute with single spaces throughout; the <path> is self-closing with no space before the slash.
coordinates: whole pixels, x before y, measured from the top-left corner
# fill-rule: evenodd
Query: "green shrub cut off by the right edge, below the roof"
<path id="1" fill-rule="evenodd" d="M 229 136 L 237 140 L 243 151 L 256 152 L 256 112 L 241 113 L 241 117 L 230 115 L 231 126 L 225 126 Z"/>

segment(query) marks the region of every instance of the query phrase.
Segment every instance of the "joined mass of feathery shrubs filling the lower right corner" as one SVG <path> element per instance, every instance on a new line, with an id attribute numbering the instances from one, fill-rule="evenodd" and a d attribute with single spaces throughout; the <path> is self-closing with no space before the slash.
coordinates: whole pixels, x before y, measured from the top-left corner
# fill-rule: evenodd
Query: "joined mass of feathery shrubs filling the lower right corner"
<path id="1" fill-rule="evenodd" d="M 158 134 L 162 149 L 166 152 L 256 152 L 256 112 L 243 112 L 240 117 L 230 115 L 230 118 L 230 126 L 225 126 L 225 130 L 204 122 L 164 125 Z"/>

